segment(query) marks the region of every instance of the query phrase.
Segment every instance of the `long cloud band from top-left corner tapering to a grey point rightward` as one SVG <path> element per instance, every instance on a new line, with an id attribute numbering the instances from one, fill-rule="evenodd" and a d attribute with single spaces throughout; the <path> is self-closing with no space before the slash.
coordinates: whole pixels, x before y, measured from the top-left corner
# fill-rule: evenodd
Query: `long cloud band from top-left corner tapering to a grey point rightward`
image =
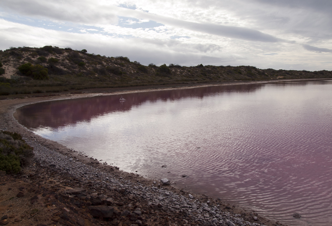
<path id="1" fill-rule="evenodd" d="M 181 27 L 184 29 L 212 34 L 222 37 L 235 38 L 256 42 L 280 42 L 283 41 L 272 35 L 260 31 L 234 26 L 224 26 L 208 23 L 195 23 L 174 18 L 153 15 L 145 12 L 115 6 L 92 6 L 87 2 L 75 4 L 75 6 L 60 5 L 52 1 L 29 1 L 24 0 L 3 0 L 5 7 L 28 16 L 41 16 L 53 20 L 70 21 L 75 23 L 98 24 L 114 23 L 116 15 L 125 17 L 135 17 L 139 19 L 148 19 L 158 23 Z M 89 10 L 89 8 L 94 10 Z"/>

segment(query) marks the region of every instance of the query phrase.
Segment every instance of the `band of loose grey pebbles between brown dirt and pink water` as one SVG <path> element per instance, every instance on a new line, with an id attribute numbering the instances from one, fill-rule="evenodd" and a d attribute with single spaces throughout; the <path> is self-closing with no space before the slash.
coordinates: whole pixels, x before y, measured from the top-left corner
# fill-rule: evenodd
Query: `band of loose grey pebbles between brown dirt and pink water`
<path id="1" fill-rule="evenodd" d="M 188 198 L 184 195 L 173 193 L 162 187 L 157 187 L 156 181 L 151 182 L 151 186 L 146 186 L 140 184 L 139 182 L 135 183 L 130 180 L 115 178 L 111 173 L 102 172 L 97 167 L 94 167 L 93 164 L 99 164 L 96 161 L 93 161 L 93 164 L 84 164 L 80 161 L 77 161 L 74 157 L 67 157 L 55 150 L 50 150 L 47 147 L 43 147 L 37 144 L 33 140 L 27 140 L 27 143 L 34 147 L 34 161 L 38 162 L 40 165 L 45 167 L 50 167 L 53 170 L 56 170 L 59 174 L 70 175 L 76 180 L 79 180 L 82 184 L 92 184 L 95 191 L 90 190 L 90 195 L 95 199 L 92 201 L 107 201 L 107 196 L 100 194 L 100 189 L 106 190 L 119 190 L 126 195 L 136 195 L 144 197 L 148 200 L 148 205 L 151 207 L 158 207 L 168 209 L 170 214 L 175 214 L 178 212 L 185 212 L 186 215 L 191 217 L 191 220 L 196 220 L 199 222 L 199 225 L 223 225 L 228 226 L 245 225 L 245 226 L 255 226 L 260 225 L 255 222 L 246 221 L 238 214 L 230 213 L 223 210 L 223 206 L 211 206 L 208 197 L 206 196 L 206 202 L 195 200 L 192 194 L 188 194 Z M 166 167 L 163 165 L 163 167 Z M 118 169 L 118 167 L 114 167 Z M 162 185 L 170 185 L 171 181 L 167 178 L 162 178 L 160 180 Z M 71 192 L 79 192 L 78 190 L 72 190 Z M 19 194 L 21 196 L 22 194 Z M 113 202 L 112 199 L 108 200 Z M 118 203 L 120 205 L 121 203 Z M 210 205 L 210 206 L 209 206 Z M 92 208 L 92 207 L 90 207 Z M 99 209 L 98 209 L 99 208 Z M 112 209 L 103 209 L 104 207 L 94 208 L 94 214 L 100 214 L 103 216 L 111 215 Z M 124 210 L 120 213 L 122 216 L 128 216 L 130 214 L 135 214 L 136 216 L 142 215 L 142 210 L 136 208 L 132 213 L 128 210 Z M 255 219 L 255 217 L 254 217 Z M 53 217 L 53 221 L 57 222 L 58 218 Z M 257 217 L 256 219 L 257 220 Z M 235 223 L 234 223 L 235 222 Z M 184 223 L 186 221 L 184 220 Z M 136 220 L 134 224 L 131 225 L 142 225 L 140 220 Z"/>

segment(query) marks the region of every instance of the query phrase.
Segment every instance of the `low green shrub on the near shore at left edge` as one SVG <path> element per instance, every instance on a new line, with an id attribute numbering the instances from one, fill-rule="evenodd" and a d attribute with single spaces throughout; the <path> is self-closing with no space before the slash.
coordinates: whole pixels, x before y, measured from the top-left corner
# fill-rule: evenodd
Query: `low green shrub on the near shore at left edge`
<path id="1" fill-rule="evenodd" d="M 33 148 L 17 133 L 0 131 L 0 170 L 19 173 L 22 166 L 30 164 Z"/>

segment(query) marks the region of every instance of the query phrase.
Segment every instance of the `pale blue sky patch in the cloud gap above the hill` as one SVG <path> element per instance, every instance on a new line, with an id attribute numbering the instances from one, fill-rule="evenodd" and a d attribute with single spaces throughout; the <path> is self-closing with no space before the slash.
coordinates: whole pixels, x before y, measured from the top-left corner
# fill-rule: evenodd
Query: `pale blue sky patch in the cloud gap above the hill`
<path id="1" fill-rule="evenodd" d="M 145 28 L 156 28 L 164 26 L 163 24 L 157 23 L 155 21 L 139 20 L 130 17 L 118 17 L 118 18 L 119 18 L 118 26 L 123 28 L 145 29 Z"/>

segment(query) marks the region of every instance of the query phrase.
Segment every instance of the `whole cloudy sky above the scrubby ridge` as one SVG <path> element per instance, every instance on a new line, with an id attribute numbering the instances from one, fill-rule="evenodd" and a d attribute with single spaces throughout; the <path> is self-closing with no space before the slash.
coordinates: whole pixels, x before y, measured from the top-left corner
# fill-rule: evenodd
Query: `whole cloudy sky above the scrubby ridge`
<path id="1" fill-rule="evenodd" d="M 332 70 L 331 0 L 1 0 L 0 49 L 70 47 L 143 65 Z"/>

